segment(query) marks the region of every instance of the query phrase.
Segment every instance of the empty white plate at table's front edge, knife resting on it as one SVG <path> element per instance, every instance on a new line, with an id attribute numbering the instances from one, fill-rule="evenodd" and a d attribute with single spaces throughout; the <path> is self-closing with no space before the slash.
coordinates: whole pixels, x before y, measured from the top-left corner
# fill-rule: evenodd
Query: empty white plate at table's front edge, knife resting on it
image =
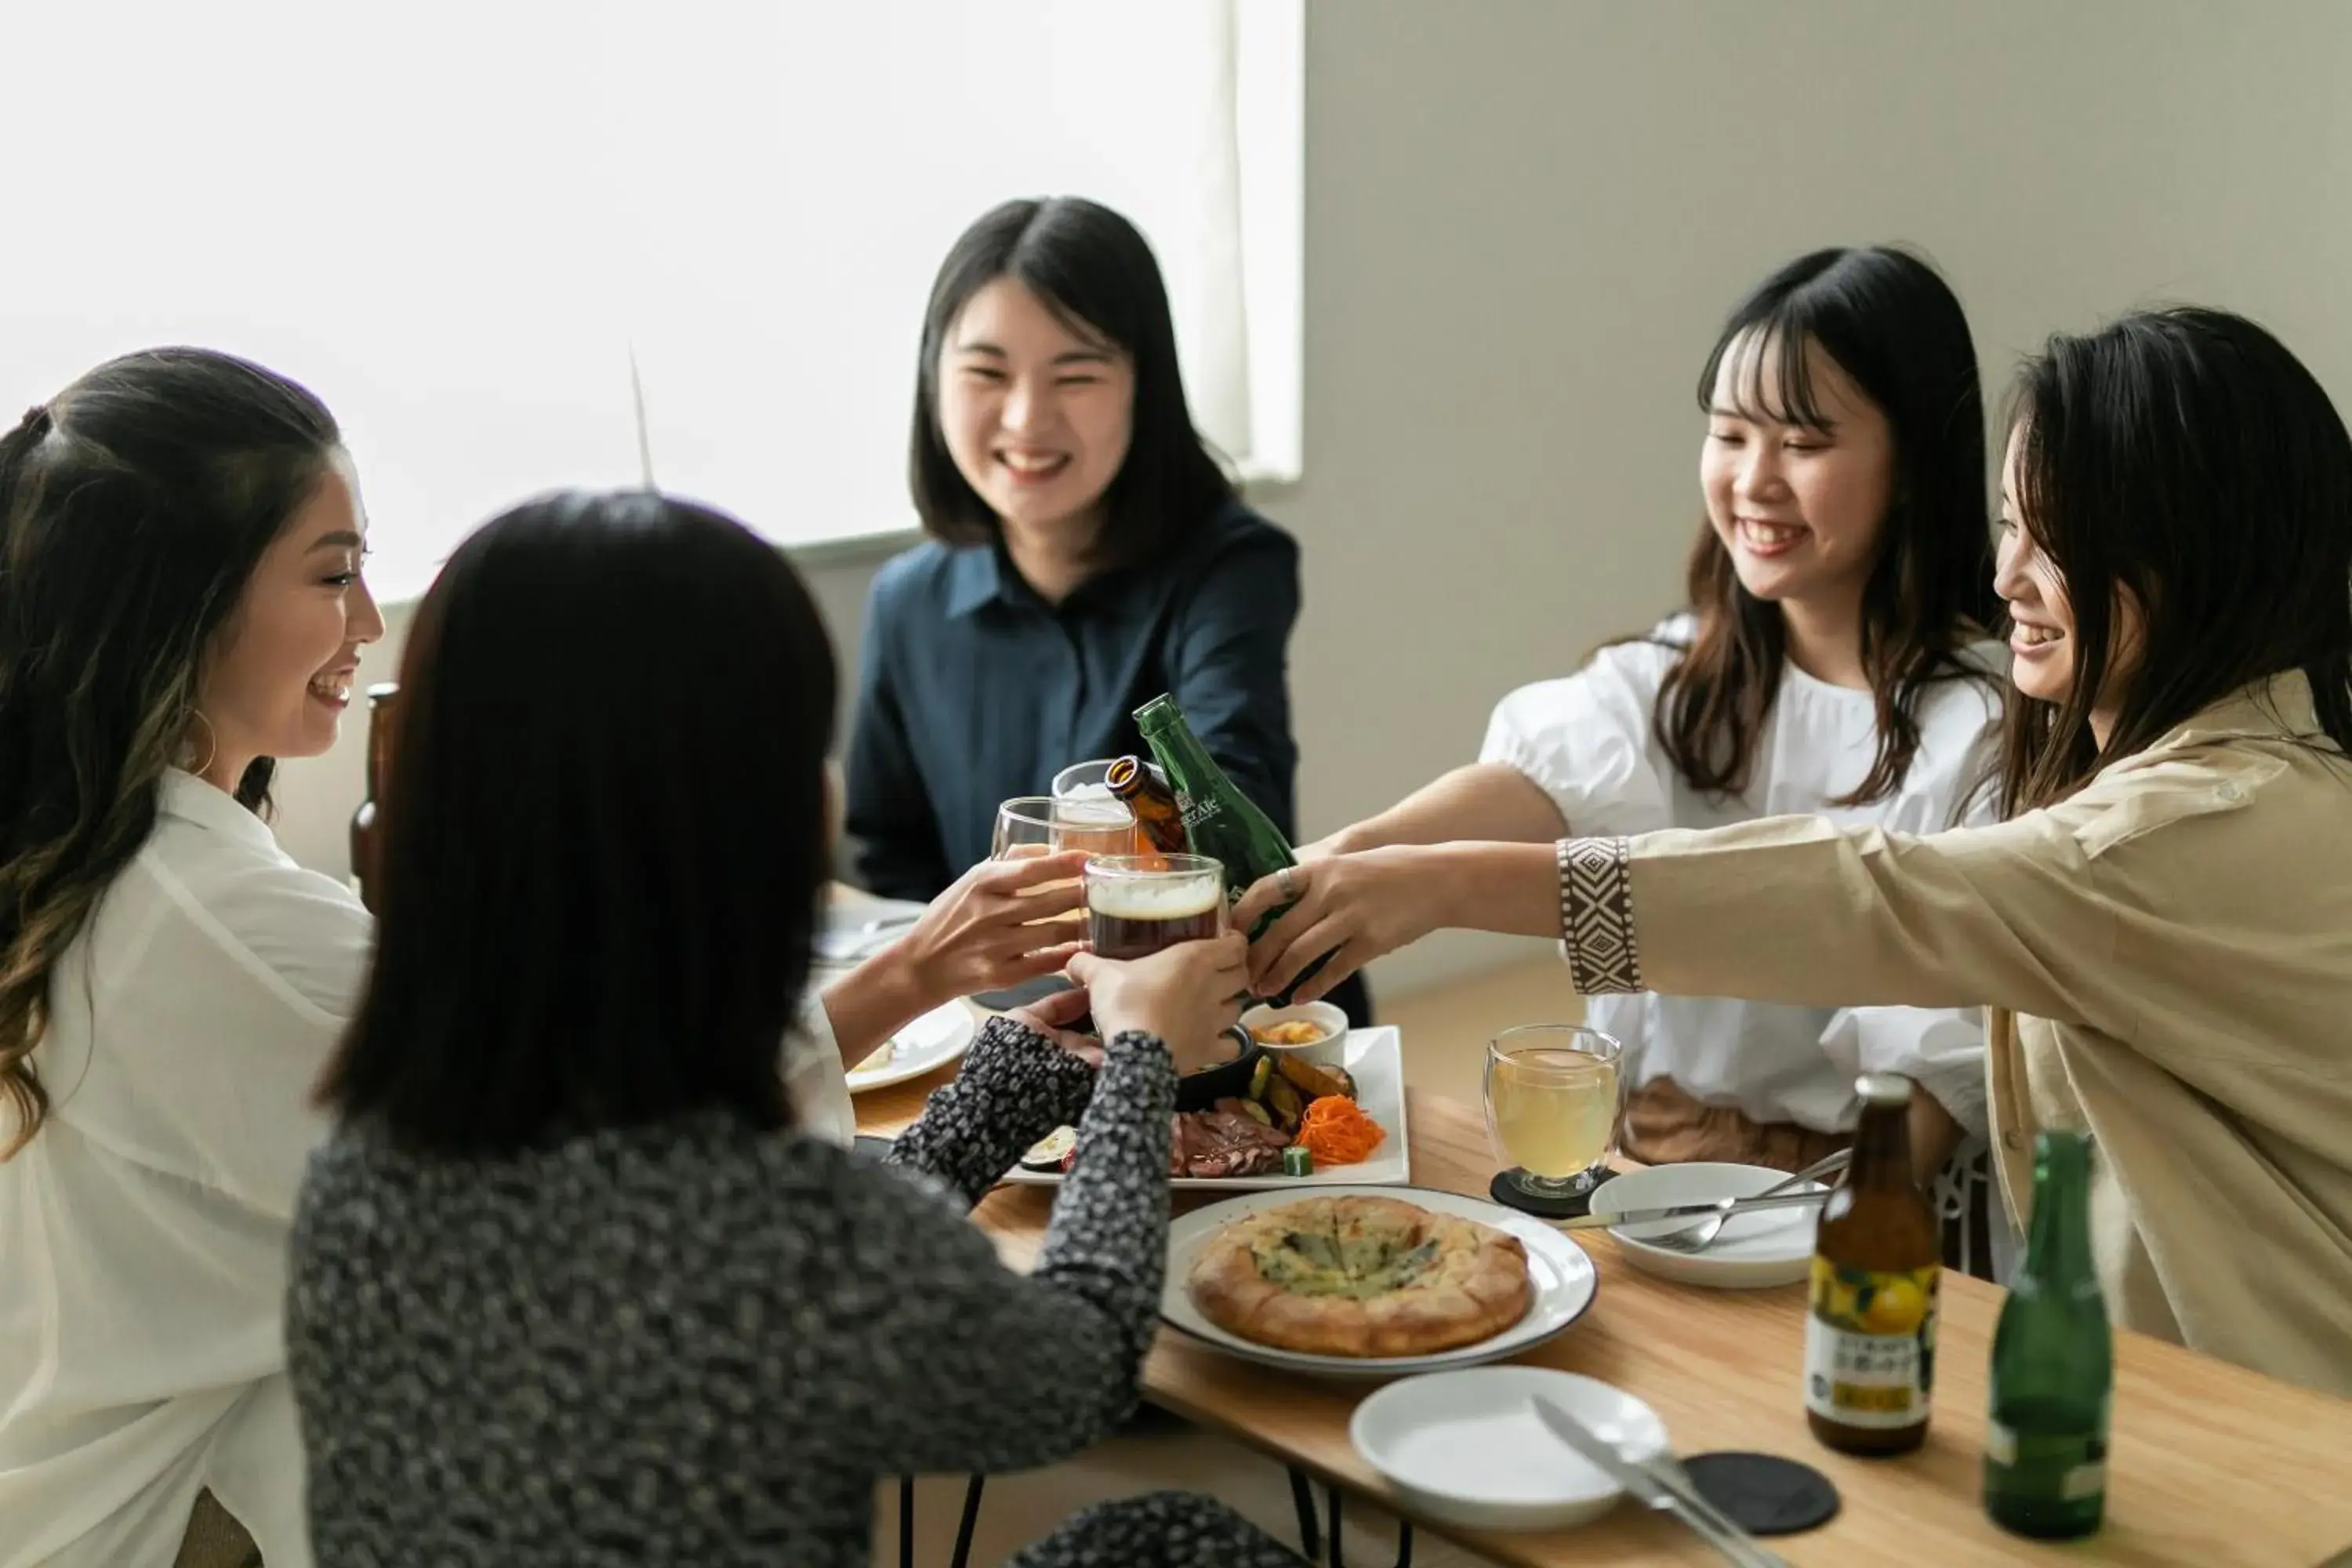
<path id="1" fill-rule="evenodd" d="M 1536 1418 L 1543 1396 L 1630 1460 L 1668 1453 L 1665 1422 L 1625 1389 L 1550 1366 L 1404 1378 L 1355 1408 L 1348 1436 L 1414 1512 L 1472 1530 L 1559 1530 L 1623 1488 Z"/>

